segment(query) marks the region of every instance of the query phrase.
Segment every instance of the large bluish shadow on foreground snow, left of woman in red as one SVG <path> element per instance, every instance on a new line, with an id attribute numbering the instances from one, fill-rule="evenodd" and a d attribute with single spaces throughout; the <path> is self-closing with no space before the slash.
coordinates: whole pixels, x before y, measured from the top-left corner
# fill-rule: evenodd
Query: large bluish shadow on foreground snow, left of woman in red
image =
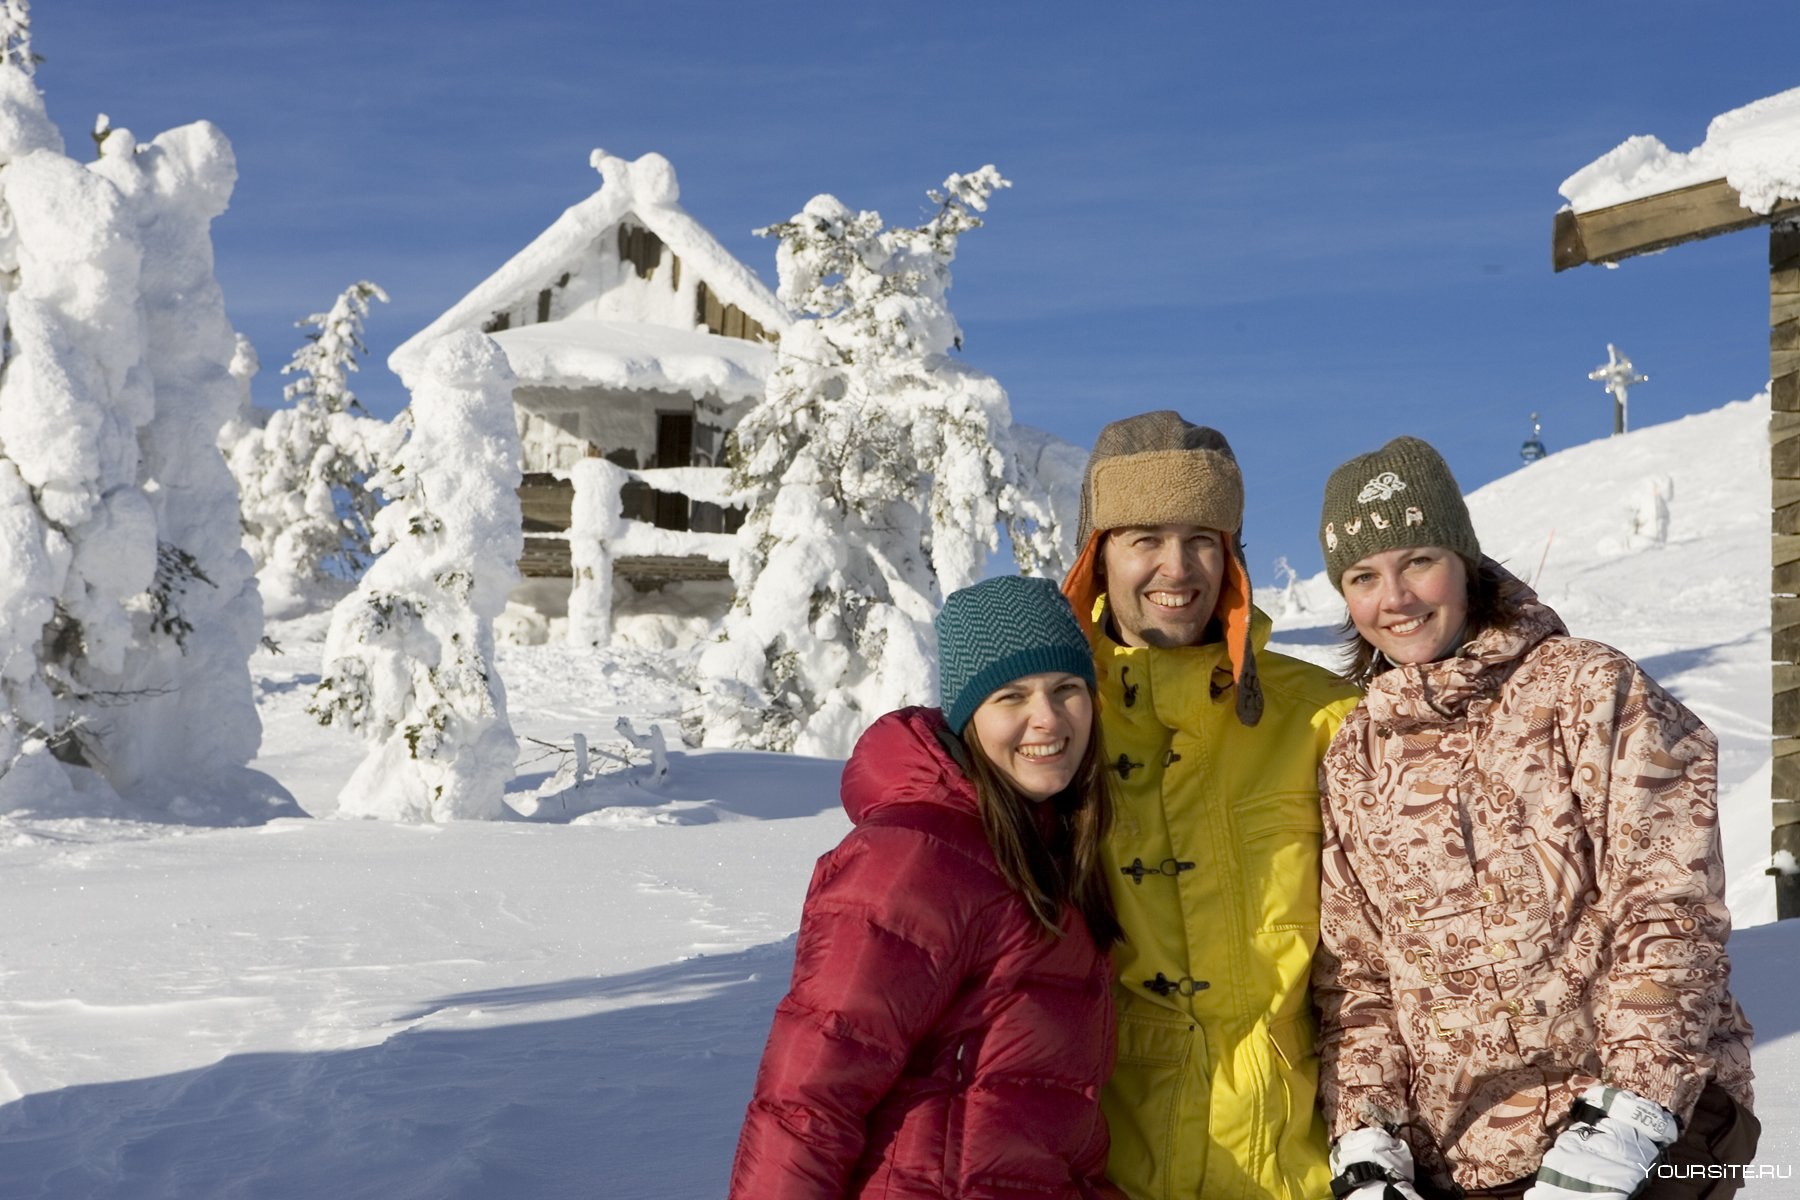
<path id="1" fill-rule="evenodd" d="M 792 939 L 430 1000 L 380 1045 L 234 1054 L 0 1108 L 0 1195 L 724 1195 Z M 477 1011 L 601 1011 L 455 1029 Z"/>

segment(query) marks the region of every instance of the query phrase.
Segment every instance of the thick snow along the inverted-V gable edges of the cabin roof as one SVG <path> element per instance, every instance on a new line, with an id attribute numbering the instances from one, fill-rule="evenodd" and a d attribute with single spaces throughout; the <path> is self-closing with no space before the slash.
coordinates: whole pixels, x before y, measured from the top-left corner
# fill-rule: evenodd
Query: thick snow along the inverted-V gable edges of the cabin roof
<path id="1" fill-rule="evenodd" d="M 565 209 L 500 270 L 488 275 L 437 320 L 401 342 L 387 358 L 387 367 L 394 374 L 410 385 L 410 376 L 425 362 L 425 347 L 430 342 L 457 329 L 479 329 L 493 313 L 535 297 L 571 259 L 628 216 L 680 255 L 720 302 L 736 304 L 763 329 L 779 333 L 794 322 L 756 272 L 734 259 L 677 203 L 680 185 L 668 158 L 650 153 L 626 162 L 596 149 L 589 155 L 589 162 L 603 180 L 599 191 Z"/>

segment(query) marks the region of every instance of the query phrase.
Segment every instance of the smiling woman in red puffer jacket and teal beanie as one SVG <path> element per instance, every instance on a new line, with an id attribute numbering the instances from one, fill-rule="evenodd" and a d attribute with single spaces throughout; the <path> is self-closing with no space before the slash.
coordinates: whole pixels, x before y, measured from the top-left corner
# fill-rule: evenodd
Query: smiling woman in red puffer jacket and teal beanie
<path id="1" fill-rule="evenodd" d="M 1114 1200 L 1100 1085 L 1120 937 L 1094 667 L 1048 579 L 938 615 L 943 709 L 875 721 L 819 860 L 733 1200 Z"/>

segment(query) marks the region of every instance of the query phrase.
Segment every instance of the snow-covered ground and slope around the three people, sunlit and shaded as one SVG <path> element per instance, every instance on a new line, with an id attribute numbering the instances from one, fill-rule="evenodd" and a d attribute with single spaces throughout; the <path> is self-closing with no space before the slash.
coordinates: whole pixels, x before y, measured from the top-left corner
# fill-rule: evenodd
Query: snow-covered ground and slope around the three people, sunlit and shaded
<path id="1" fill-rule="evenodd" d="M 1769 923 L 1760 874 L 1766 414 L 1566 450 L 1471 509 L 1577 631 L 1719 732 L 1733 988 L 1762 1162 L 1787 1171 L 1746 1195 L 1773 1200 L 1800 1166 L 1800 921 Z M 1328 660 L 1334 601 L 1301 581 L 1282 646 Z M 329 815 L 362 747 L 304 712 L 324 622 L 272 635 L 256 766 Z M 614 723 L 673 734 L 689 667 L 504 648 L 520 820 L 0 817 L 0 1196 L 722 1195 L 812 860 L 846 822 L 826 759 L 677 750 L 653 781 Z M 558 750 L 578 730 L 608 772 L 585 784 Z"/>

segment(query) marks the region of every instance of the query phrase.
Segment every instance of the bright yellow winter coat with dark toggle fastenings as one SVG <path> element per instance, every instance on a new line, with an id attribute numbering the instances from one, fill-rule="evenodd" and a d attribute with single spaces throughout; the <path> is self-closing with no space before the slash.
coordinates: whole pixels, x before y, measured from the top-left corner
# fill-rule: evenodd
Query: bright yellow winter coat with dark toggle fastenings
<path id="1" fill-rule="evenodd" d="M 1328 1196 L 1307 995 L 1318 766 L 1357 696 L 1265 651 L 1258 610 L 1264 714 L 1246 727 L 1222 644 L 1120 646 L 1100 606 L 1093 648 L 1116 772 L 1107 874 L 1127 936 L 1112 950 L 1107 1175 L 1132 1200 Z"/>

